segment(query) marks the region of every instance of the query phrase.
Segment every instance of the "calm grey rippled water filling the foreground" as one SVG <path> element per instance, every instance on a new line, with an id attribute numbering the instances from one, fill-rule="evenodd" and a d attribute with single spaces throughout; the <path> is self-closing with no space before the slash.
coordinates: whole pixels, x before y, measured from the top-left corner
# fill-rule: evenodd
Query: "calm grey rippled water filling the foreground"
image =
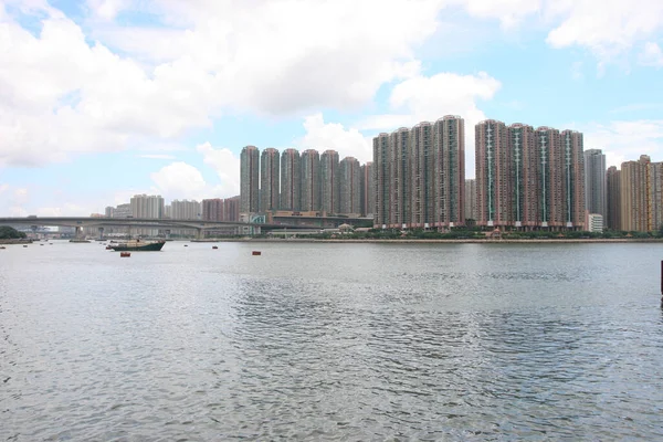
<path id="1" fill-rule="evenodd" d="M 188 245 L 0 250 L 0 440 L 663 439 L 662 244 Z"/>

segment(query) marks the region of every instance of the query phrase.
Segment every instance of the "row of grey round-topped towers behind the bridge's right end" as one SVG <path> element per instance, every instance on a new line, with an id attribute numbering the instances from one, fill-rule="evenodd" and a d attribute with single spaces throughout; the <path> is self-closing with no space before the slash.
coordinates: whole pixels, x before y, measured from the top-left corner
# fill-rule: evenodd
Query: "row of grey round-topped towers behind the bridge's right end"
<path id="1" fill-rule="evenodd" d="M 240 212 L 316 212 L 320 215 L 371 217 L 372 164 L 354 157 L 339 160 L 336 150 L 285 149 L 255 146 L 240 158 Z"/>

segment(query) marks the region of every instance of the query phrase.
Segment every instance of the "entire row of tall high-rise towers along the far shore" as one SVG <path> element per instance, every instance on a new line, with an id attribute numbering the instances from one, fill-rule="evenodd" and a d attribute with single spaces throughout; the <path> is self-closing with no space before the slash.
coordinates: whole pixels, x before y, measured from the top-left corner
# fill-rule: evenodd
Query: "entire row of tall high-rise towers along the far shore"
<path id="1" fill-rule="evenodd" d="M 663 162 L 648 156 L 606 169 L 583 137 L 487 119 L 475 128 L 476 178 L 465 180 L 460 116 L 373 138 L 373 161 L 338 152 L 241 154 L 241 213 L 315 212 L 371 217 L 377 229 L 465 225 L 517 230 L 648 232 L 663 224 Z"/>

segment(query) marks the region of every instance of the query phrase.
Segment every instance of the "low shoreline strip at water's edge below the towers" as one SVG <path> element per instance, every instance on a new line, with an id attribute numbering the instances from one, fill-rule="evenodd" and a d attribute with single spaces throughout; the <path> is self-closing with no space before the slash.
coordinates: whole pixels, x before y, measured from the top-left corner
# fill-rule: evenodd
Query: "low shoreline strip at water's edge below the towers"
<path id="1" fill-rule="evenodd" d="M 202 241 L 192 241 L 202 242 Z M 378 240 L 378 239 L 352 239 L 352 240 L 314 240 L 306 238 L 296 239 L 251 239 L 251 238 L 221 238 L 218 240 L 206 240 L 204 242 L 265 242 L 265 243 L 386 243 L 386 244 L 609 244 L 609 243 L 663 243 L 663 239 L 534 239 L 534 240 Z"/>

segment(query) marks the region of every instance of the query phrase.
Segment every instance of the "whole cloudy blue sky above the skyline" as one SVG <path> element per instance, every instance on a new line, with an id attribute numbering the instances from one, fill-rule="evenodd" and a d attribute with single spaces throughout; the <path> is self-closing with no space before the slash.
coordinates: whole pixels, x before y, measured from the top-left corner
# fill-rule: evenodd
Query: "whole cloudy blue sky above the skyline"
<path id="1" fill-rule="evenodd" d="M 0 0 L 0 217 L 239 194 L 239 155 L 465 119 L 663 161 L 661 0 Z"/>

